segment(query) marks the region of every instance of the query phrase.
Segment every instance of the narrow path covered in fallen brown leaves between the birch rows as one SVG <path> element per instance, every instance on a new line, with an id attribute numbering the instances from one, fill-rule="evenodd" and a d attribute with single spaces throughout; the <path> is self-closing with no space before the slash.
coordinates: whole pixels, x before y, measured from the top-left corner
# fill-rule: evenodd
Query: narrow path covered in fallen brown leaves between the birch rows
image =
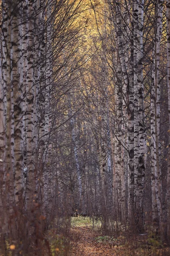
<path id="1" fill-rule="evenodd" d="M 113 244 L 96 241 L 99 233 L 89 227 L 73 227 L 69 256 L 119 256 Z"/>

